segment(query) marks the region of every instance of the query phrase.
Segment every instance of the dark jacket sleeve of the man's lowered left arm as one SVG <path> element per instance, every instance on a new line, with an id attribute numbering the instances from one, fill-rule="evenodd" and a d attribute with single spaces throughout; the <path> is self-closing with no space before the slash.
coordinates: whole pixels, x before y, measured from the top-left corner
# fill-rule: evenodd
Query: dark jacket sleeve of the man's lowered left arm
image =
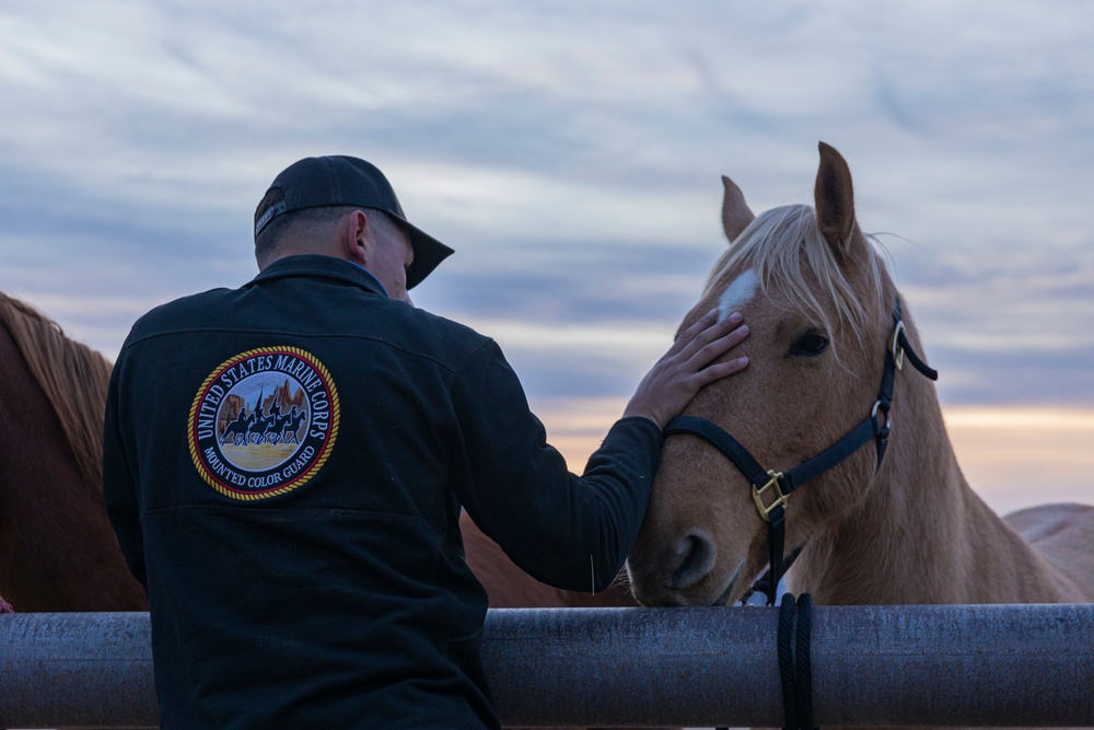
<path id="1" fill-rule="evenodd" d="M 118 536 L 118 545 L 121 547 L 126 564 L 147 592 L 144 540 L 141 532 L 137 483 L 126 455 L 119 416 L 121 363 L 123 360 L 119 358 L 114 366 L 106 396 L 106 419 L 103 425 L 103 499 L 106 501 L 106 514 Z"/>

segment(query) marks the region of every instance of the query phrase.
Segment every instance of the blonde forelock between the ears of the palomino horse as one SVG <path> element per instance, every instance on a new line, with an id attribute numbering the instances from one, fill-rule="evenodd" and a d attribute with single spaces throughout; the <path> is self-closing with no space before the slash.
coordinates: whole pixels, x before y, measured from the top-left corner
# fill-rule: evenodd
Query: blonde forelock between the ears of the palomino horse
<path id="1" fill-rule="evenodd" d="M 752 221 L 721 255 L 707 278 L 702 298 L 715 296 L 725 286 L 728 273 L 752 266 L 761 291 L 778 281 L 791 305 L 818 323 L 833 341 L 842 326 L 861 341 L 868 324 L 876 321 L 877 310 L 883 308 L 883 265 L 872 242 L 868 236 L 869 266 L 859 285 L 866 290 L 858 292 L 825 241 L 816 211 L 804 205 L 773 208 Z M 818 288 L 830 306 L 817 296 Z"/>

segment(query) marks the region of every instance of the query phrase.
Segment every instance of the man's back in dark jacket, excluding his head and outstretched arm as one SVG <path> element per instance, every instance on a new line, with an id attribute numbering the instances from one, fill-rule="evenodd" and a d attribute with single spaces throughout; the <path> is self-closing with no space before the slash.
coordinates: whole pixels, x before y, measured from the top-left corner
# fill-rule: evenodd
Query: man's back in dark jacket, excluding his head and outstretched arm
<path id="1" fill-rule="evenodd" d="M 177 700 L 164 725 L 379 727 L 370 711 L 388 708 L 480 727 L 488 699 L 467 698 L 485 692 L 486 596 L 452 531 L 439 439 L 459 360 L 487 340 L 345 262 L 286 264 L 151 313 L 118 363 L 156 656 L 171 658 L 158 684 Z M 224 438 L 242 413 L 276 427 L 293 406 L 295 431 Z"/>

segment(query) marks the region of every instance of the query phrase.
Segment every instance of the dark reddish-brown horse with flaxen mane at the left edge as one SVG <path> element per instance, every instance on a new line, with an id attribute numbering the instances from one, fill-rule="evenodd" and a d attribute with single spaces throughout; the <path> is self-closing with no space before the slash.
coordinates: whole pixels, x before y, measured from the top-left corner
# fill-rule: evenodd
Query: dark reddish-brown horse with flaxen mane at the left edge
<path id="1" fill-rule="evenodd" d="M 106 519 L 110 363 L 0 293 L 0 594 L 15 610 L 144 611 Z"/>

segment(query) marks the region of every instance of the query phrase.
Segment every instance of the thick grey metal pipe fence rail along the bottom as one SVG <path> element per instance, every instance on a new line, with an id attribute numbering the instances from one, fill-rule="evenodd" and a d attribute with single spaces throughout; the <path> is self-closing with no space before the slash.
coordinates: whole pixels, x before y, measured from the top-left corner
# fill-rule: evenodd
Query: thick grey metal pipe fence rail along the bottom
<path id="1" fill-rule="evenodd" d="M 510 726 L 782 723 L 776 609 L 491 611 Z M 818 606 L 822 726 L 1094 726 L 1094 605 Z M 148 614 L 0 616 L 0 727 L 154 727 Z"/>

